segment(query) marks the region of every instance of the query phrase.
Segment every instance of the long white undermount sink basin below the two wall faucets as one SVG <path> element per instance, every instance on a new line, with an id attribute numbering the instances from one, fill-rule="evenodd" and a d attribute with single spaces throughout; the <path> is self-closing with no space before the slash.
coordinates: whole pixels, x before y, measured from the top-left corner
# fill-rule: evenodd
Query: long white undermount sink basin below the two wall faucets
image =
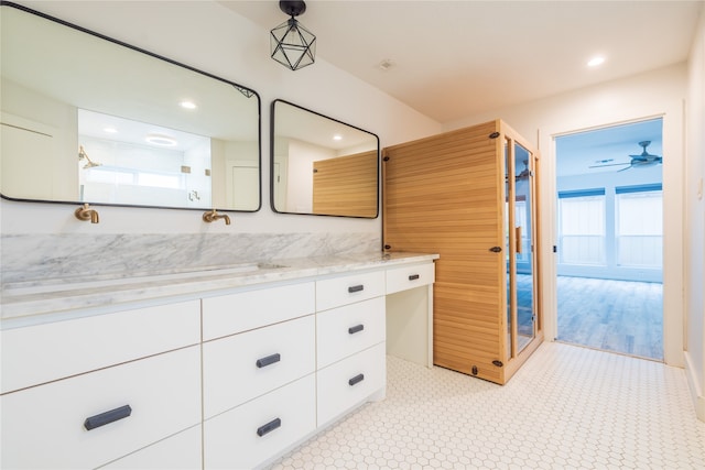
<path id="1" fill-rule="evenodd" d="M 78 291 L 99 287 L 117 287 L 126 285 L 139 285 L 144 283 L 175 281 L 195 282 L 207 277 L 220 277 L 228 275 L 252 274 L 260 271 L 270 271 L 288 267 L 272 263 L 240 263 L 220 266 L 202 266 L 184 270 L 171 270 L 169 272 L 140 272 L 133 274 L 105 274 L 97 276 L 59 277 L 41 281 L 21 281 L 7 283 L 2 287 L 2 294 L 9 296 L 48 294 L 65 291 Z"/>

